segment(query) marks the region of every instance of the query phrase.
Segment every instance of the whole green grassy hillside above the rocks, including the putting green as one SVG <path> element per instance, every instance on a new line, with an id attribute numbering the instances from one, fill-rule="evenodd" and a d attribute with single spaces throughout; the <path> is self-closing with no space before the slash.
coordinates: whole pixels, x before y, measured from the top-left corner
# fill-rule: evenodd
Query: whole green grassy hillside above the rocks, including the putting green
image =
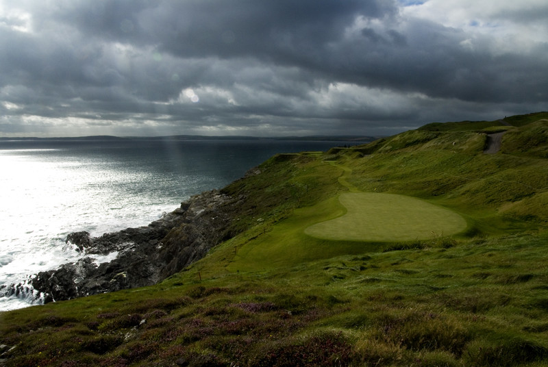
<path id="1" fill-rule="evenodd" d="M 546 118 L 276 155 L 182 273 L 0 314 L 0 366 L 547 366 Z"/>

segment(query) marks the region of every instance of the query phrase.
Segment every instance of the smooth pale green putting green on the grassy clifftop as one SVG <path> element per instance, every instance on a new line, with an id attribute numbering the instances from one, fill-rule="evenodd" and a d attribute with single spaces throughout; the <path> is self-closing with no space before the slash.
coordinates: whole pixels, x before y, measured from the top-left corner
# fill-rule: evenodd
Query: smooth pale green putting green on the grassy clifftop
<path id="1" fill-rule="evenodd" d="M 311 225 L 305 233 L 326 240 L 388 242 L 450 236 L 466 229 L 466 220 L 456 212 L 414 197 L 347 192 L 339 201 L 346 214 Z"/>

